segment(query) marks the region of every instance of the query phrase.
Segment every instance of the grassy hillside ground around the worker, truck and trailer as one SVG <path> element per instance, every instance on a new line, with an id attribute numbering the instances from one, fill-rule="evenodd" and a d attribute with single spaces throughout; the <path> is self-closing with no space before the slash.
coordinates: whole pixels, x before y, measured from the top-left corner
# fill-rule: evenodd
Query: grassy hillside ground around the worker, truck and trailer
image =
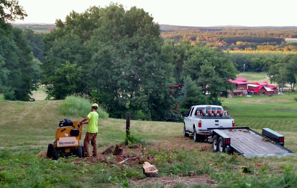
<path id="1" fill-rule="evenodd" d="M 272 128 L 285 135 L 287 148 L 297 151 L 294 98 L 297 93 L 224 98 L 223 106 L 231 108 L 228 111 L 236 126 L 249 126 L 258 132 L 262 127 Z M 191 185 L 188 180 L 172 185 L 177 188 L 297 186 L 296 156 L 245 158 L 213 153 L 210 144 L 194 143 L 192 137 L 184 137 L 182 123 L 132 121 L 132 143 L 122 145 L 123 155 L 139 159 L 123 165 L 115 165 L 122 158 L 112 155 L 100 155 L 96 160 L 52 161 L 36 157 L 53 142 L 58 121 L 82 119 L 59 114 L 59 104 L 61 101 L 0 101 L 0 187 L 164 187 L 164 182 L 146 182 L 142 173 L 144 161 L 155 165 L 169 183 L 183 178 L 209 179 Z M 125 123 L 120 119 L 99 119 L 99 152 L 124 142 Z M 84 126 L 82 139 L 85 133 Z"/>

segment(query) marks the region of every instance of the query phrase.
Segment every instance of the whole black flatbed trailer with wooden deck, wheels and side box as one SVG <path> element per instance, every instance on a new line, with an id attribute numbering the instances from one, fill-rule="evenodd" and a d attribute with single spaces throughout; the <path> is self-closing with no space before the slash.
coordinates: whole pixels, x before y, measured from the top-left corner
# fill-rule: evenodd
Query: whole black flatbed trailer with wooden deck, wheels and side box
<path id="1" fill-rule="evenodd" d="M 262 134 L 243 127 L 208 128 L 215 152 L 228 152 L 245 157 L 288 156 L 295 155 L 293 151 L 284 147 L 285 137 L 270 128 L 263 128 Z"/>

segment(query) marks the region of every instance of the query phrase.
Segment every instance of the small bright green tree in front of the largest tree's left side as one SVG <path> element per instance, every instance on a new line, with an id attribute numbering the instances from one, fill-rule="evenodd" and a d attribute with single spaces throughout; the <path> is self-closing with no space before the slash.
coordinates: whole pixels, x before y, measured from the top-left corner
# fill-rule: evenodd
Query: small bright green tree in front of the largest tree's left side
<path id="1" fill-rule="evenodd" d="M 51 76 L 51 87 L 49 87 L 49 96 L 55 99 L 65 99 L 67 95 L 81 92 L 82 67 L 71 64 L 69 61 L 61 64 L 60 68 L 55 70 L 54 76 Z"/>

